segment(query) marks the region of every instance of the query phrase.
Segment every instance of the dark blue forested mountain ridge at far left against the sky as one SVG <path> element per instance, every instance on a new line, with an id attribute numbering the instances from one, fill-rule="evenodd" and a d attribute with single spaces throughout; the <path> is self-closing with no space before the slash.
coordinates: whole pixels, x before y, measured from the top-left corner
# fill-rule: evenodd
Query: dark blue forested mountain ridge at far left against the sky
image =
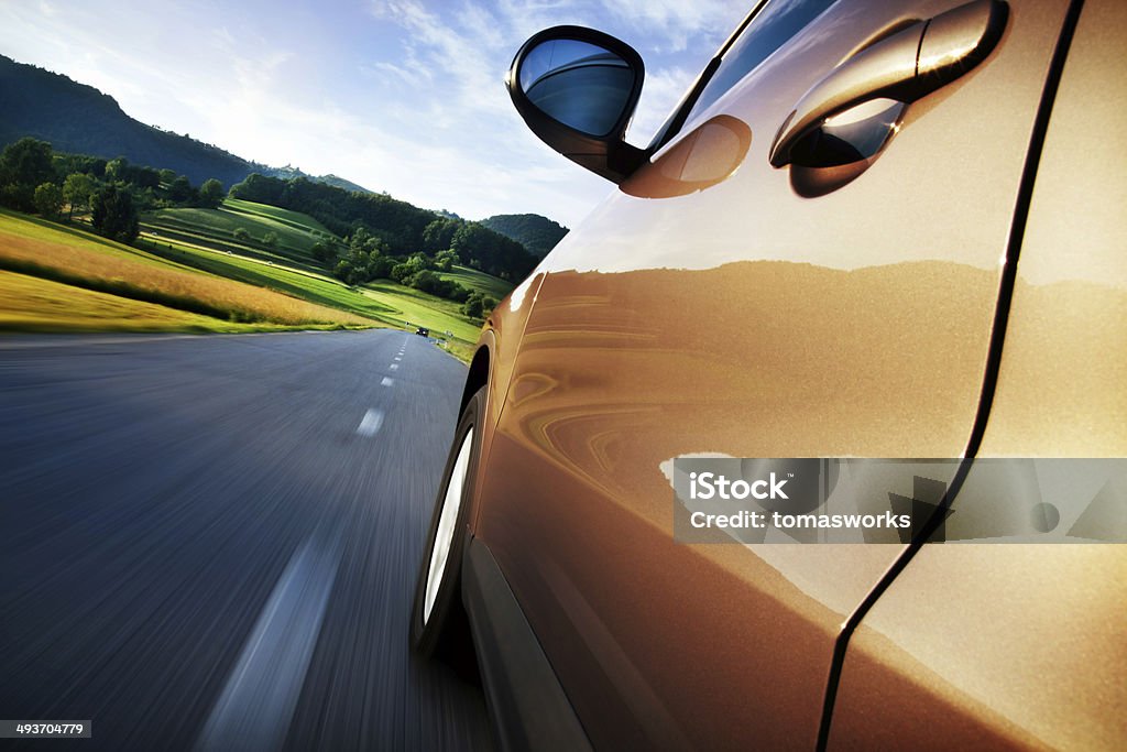
<path id="1" fill-rule="evenodd" d="M 334 175 L 319 178 L 296 168 L 270 168 L 187 134 L 145 125 L 91 86 L 0 55 L 0 148 L 26 135 L 51 142 L 55 151 L 125 157 L 134 165 L 172 169 L 193 185 L 213 177 L 231 186 L 259 172 L 364 191 Z"/>

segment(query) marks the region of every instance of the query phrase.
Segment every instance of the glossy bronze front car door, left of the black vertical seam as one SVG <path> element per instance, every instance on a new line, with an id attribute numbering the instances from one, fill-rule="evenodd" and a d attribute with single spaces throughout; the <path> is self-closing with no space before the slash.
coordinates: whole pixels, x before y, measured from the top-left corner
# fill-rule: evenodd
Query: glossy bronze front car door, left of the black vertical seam
<path id="1" fill-rule="evenodd" d="M 598 747 L 814 746 L 841 625 L 904 550 L 675 542 L 675 459 L 967 448 L 1065 3 L 1012 3 L 974 70 L 842 118 L 890 118 L 852 161 L 772 165 L 811 87 L 958 5 L 762 3 L 541 267 L 476 533 Z"/>

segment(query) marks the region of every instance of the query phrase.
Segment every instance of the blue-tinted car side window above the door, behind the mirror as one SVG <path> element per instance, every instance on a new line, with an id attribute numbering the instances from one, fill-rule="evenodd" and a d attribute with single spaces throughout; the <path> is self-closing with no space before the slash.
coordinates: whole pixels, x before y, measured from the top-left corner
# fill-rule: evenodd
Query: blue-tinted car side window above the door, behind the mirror
<path id="1" fill-rule="evenodd" d="M 725 53 L 720 67 L 704 85 L 689 116 L 683 122 L 708 108 L 725 91 L 760 67 L 775 50 L 806 28 L 837 0 L 769 0 L 747 29 Z"/>

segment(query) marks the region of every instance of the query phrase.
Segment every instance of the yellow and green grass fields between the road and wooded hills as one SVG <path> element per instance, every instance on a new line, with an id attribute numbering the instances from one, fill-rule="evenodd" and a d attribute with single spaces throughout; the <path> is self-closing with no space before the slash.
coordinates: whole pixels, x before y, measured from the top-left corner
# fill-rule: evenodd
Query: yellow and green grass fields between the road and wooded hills
<path id="1" fill-rule="evenodd" d="M 251 239 L 237 241 L 238 228 Z M 278 245 L 260 244 L 274 232 Z M 0 328 L 242 331 L 279 327 L 424 326 L 468 360 L 480 325 L 461 306 L 390 281 L 349 286 L 310 249 L 329 232 L 298 212 L 227 200 L 220 209 L 162 209 L 134 246 L 85 225 L 0 210 Z M 498 300 L 513 287 L 455 266 L 442 274 Z M 37 277 L 37 278 L 36 278 Z M 28 304 L 20 310 L 19 294 Z M 114 298 L 118 300 L 114 300 Z M 166 310 L 160 310 L 161 308 Z M 445 333 L 452 333 L 446 337 Z"/>

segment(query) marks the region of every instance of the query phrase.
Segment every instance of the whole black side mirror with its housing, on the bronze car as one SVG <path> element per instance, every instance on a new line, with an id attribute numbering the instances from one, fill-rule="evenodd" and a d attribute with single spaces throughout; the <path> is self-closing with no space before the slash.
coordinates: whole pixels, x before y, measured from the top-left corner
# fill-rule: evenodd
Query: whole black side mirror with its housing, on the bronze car
<path id="1" fill-rule="evenodd" d="M 641 55 L 624 42 L 582 26 L 556 26 L 524 43 L 505 85 L 541 141 L 621 183 L 647 159 L 625 142 L 644 78 Z"/>

